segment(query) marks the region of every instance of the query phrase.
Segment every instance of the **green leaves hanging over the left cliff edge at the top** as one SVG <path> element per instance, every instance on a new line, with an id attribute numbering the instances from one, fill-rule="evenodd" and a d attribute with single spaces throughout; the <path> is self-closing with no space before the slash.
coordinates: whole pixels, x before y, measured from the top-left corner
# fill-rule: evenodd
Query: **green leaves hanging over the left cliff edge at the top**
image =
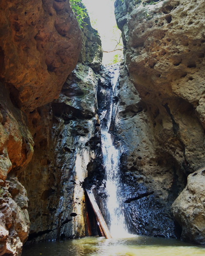
<path id="1" fill-rule="evenodd" d="M 81 0 L 70 0 L 70 2 L 79 26 L 80 28 L 83 28 L 83 25 L 87 25 L 87 23 L 84 22 L 84 19 L 88 16 L 86 8 L 82 4 Z"/>

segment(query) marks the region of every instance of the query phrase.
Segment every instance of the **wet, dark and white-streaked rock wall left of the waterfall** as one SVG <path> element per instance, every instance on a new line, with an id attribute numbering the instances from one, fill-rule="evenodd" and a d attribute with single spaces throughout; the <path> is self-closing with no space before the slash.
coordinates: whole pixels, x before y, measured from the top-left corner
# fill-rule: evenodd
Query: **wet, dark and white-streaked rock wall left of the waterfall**
<path id="1" fill-rule="evenodd" d="M 19 179 L 30 200 L 28 240 L 32 242 L 87 235 L 82 183 L 100 166 L 97 88 L 103 78 L 97 74 L 100 38 L 86 21 L 79 63 L 59 99 L 30 113 L 34 156 Z"/>

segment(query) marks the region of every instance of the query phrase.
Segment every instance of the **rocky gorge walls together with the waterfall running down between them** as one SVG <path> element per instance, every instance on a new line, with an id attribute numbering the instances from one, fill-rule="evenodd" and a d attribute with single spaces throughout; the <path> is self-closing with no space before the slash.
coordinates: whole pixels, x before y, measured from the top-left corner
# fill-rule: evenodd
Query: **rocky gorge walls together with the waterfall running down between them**
<path id="1" fill-rule="evenodd" d="M 0 0 L 0 256 L 99 235 L 85 188 L 114 237 L 204 245 L 205 2 L 116 0 L 109 67 L 71 4 Z"/>

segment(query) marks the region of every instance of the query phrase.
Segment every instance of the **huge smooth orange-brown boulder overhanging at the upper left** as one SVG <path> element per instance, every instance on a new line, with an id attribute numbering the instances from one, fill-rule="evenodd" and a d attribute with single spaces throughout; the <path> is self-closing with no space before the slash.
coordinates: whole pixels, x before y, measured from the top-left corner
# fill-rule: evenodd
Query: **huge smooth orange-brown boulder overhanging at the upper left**
<path id="1" fill-rule="evenodd" d="M 31 111 L 57 98 L 81 47 L 69 1 L 1 1 L 0 24 L 0 77 L 12 101 Z"/>

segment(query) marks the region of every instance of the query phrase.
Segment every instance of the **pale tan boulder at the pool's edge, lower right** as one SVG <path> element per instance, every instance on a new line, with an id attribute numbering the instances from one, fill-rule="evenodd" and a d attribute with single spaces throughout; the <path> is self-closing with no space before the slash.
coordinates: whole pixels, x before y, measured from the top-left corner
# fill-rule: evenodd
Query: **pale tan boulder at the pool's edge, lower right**
<path id="1" fill-rule="evenodd" d="M 190 174 L 186 188 L 172 205 L 175 219 L 182 227 L 182 239 L 205 244 L 205 168 Z"/>

